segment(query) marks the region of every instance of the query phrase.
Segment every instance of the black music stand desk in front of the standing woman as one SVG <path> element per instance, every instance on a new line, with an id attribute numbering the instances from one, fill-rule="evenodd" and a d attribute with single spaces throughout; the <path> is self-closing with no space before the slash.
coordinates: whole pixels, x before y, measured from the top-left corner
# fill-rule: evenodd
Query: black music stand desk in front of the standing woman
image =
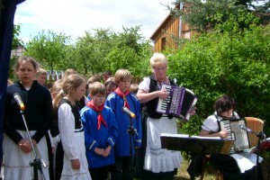
<path id="1" fill-rule="evenodd" d="M 187 134 L 161 133 L 161 147 L 169 150 L 180 150 L 195 154 L 229 154 L 232 139 L 220 139 L 216 137 L 190 137 Z"/>

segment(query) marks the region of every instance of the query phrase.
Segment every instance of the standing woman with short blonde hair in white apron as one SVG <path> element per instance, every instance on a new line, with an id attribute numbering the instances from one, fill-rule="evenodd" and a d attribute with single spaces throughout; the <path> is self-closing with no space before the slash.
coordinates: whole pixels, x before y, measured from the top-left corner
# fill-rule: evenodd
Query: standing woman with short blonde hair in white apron
<path id="1" fill-rule="evenodd" d="M 166 76 L 167 59 L 163 54 L 155 53 L 150 58 L 152 76 L 145 77 L 139 84 L 137 96 L 144 103 L 143 139 L 140 157 L 144 158 L 143 179 L 173 179 L 175 169 L 180 167 L 182 157 L 179 151 L 161 148 L 161 133 L 177 133 L 176 119 L 166 114 L 157 113 L 158 98 L 166 99 L 166 90 L 162 84 L 175 85 Z M 143 152 L 145 150 L 145 153 Z M 145 154 L 145 156 L 144 156 Z"/>

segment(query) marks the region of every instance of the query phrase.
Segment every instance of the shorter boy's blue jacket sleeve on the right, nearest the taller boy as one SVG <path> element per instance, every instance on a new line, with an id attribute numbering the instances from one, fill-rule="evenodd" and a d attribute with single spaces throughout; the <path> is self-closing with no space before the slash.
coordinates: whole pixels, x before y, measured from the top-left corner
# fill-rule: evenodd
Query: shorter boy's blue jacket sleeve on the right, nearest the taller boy
<path id="1" fill-rule="evenodd" d="M 106 142 L 107 142 L 107 144 L 110 144 L 111 147 L 113 147 L 115 142 L 116 142 L 117 136 L 118 136 L 118 126 L 117 126 L 117 122 L 115 120 L 115 115 L 112 112 L 112 109 L 109 109 L 108 118 L 109 118 L 108 121 L 110 121 L 110 123 L 112 125 L 111 125 L 111 129 L 110 129 L 109 137 L 108 137 Z"/>

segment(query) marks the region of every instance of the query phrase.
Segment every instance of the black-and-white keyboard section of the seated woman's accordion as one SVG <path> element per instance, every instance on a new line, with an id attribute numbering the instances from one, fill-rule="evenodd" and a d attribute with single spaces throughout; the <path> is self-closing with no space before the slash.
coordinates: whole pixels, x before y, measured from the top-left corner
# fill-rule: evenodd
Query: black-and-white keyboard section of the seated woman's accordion
<path id="1" fill-rule="evenodd" d="M 220 130 L 226 129 L 228 131 L 228 139 L 234 140 L 233 145 L 230 148 L 229 154 L 249 148 L 249 141 L 247 131 L 241 130 L 240 125 L 246 126 L 245 119 L 235 120 L 220 120 Z"/>

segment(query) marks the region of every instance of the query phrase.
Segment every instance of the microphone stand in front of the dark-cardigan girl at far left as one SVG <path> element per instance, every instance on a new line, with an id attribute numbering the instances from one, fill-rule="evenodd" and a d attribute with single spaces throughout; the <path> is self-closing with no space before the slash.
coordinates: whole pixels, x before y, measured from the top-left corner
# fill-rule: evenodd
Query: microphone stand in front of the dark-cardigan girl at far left
<path id="1" fill-rule="evenodd" d="M 38 170 L 40 170 L 40 175 L 41 175 L 41 178 L 42 180 L 45 180 L 45 176 L 43 174 L 43 171 L 42 171 L 42 166 L 45 166 L 45 163 L 42 159 L 40 159 L 37 155 L 37 152 L 36 152 L 36 149 L 34 148 L 33 144 L 32 144 L 32 141 L 31 141 L 31 135 L 30 135 L 30 132 L 28 130 L 28 126 L 27 126 L 27 123 L 25 121 L 25 118 L 24 118 L 24 114 L 23 114 L 23 110 L 20 108 L 20 112 L 22 114 L 22 117 L 23 117 L 23 123 L 24 123 L 24 126 L 25 126 L 25 129 L 27 131 L 27 134 L 28 134 L 28 138 L 30 140 L 30 143 L 31 143 L 31 148 L 32 148 L 32 151 L 34 153 L 34 160 L 32 162 L 30 162 L 30 166 L 33 166 L 33 180 L 38 180 L 39 179 L 39 176 L 38 176 Z"/>

